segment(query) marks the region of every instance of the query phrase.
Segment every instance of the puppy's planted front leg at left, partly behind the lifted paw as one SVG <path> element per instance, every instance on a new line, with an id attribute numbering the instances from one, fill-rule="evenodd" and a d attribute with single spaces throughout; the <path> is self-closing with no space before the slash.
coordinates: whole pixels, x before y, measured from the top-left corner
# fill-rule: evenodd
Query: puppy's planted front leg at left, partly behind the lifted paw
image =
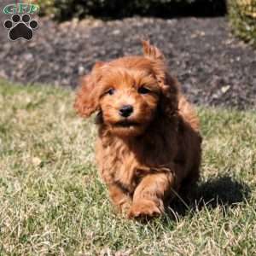
<path id="1" fill-rule="evenodd" d="M 125 193 L 124 189 L 121 189 L 117 184 L 108 184 L 108 191 L 110 198 L 118 212 L 127 212 L 131 207 L 131 196 Z"/>

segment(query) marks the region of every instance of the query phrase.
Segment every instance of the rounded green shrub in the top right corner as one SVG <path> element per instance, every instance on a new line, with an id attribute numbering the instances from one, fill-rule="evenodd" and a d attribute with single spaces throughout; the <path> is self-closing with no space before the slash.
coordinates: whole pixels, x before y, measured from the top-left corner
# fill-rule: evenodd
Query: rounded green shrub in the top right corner
<path id="1" fill-rule="evenodd" d="M 256 46 L 256 1 L 229 0 L 228 7 L 235 34 Z"/>

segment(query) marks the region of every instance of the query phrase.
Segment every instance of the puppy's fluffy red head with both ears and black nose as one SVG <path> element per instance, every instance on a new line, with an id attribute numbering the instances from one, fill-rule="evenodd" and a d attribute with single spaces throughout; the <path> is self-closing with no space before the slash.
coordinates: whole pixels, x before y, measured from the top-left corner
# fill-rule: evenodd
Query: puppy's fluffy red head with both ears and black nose
<path id="1" fill-rule="evenodd" d="M 143 42 L 144 56 L 97 62 L 84 77 L 74 107 L 84 117 L 99 111 L 108 130 L 119 137 L 143 134 L 157 111 L 177 110 L 177 83 L 166 73 L 160 50 Z"/>

